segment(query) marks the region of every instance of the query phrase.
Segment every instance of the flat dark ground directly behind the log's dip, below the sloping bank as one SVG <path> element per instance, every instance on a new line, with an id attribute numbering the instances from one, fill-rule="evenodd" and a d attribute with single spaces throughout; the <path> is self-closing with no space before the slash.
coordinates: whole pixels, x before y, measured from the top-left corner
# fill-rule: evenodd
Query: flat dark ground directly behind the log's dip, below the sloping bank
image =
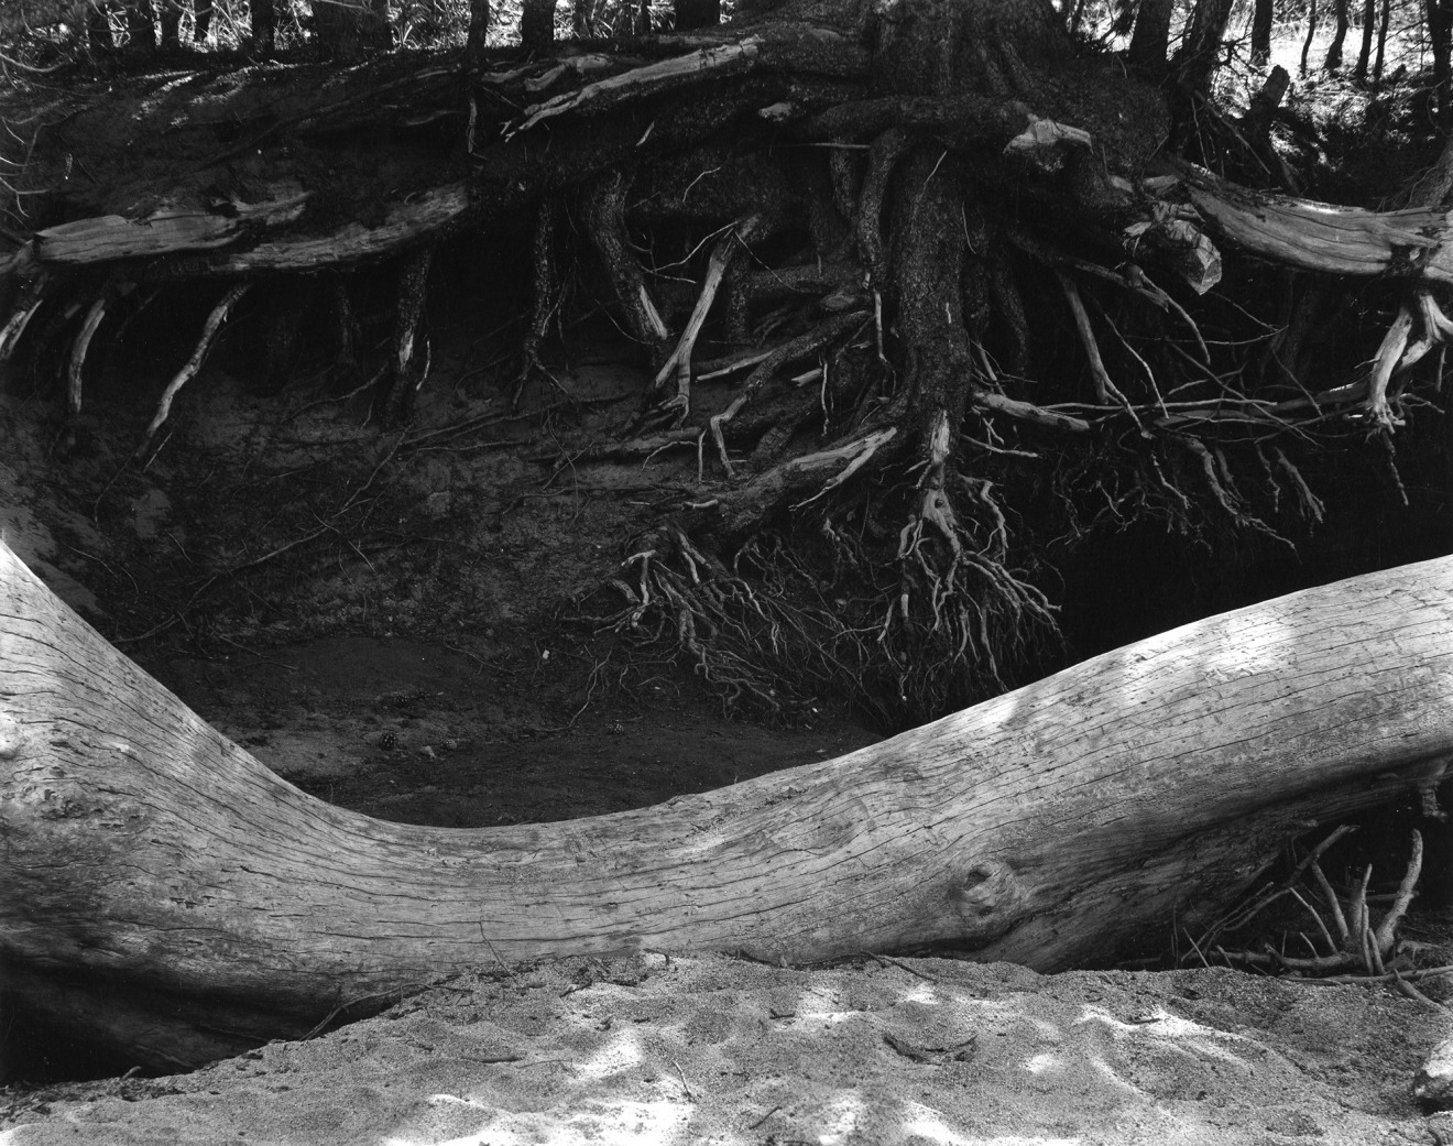
<path id="1" fill-rule="evenodd" d="M 593 684 L 581 654 L 539 641 L 506 649 L 478 636 L 450 648 L 330 636 L 153 671 L 305 792 L 448 828 L 645 808 L 876 739 L 844 720 L 729 720 L 715 697 L 661 668 L 623 691 L 602 672 Z"/>

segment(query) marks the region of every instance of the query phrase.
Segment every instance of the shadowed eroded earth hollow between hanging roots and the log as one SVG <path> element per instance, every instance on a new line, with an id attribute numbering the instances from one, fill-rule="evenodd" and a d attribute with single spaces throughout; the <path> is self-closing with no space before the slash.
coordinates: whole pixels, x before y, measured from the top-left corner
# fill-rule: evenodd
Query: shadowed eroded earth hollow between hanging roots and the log
<path id="1" fill-rule="evenodd" d="M 368 365 L 347 375 L 327 349 L 264 392 L 267 314 L 244 311 L 147 463 L 131 453 L 189 350 L 166 337 L 180 301 L 87 372 L 73 427 L 54 366 L 19 363 L 0 379 L 7 543 L 264 764 L 385 819 L 618 812 L 876 739 L 827 699 L 732 707 L 671 633 L 615 630 L 609 581 L 695 452 L 581 459 L 639 392 L 629 349 L 577 333 L 577 359 L 516 405 L 478 305 L 440 308 L 407 428 L 371 423 Z"/>

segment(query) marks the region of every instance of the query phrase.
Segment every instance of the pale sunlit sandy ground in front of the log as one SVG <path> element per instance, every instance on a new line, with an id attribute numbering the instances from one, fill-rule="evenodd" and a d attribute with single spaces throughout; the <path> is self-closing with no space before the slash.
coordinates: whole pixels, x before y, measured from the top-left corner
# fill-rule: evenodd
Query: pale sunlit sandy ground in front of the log
<path id="1" fill-rule="evenodd" d="M 1443 1143 L 1409 1082 L 1449 1025 L 1219 969 L 648 953 L 481 970 L 192 1075 L 0 1092 L 0 1143 Z"/>

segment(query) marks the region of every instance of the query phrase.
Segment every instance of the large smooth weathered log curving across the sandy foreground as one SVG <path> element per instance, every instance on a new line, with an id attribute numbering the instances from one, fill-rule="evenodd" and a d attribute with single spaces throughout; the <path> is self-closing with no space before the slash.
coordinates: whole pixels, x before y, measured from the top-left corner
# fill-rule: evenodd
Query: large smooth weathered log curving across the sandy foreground
<path id="1" fill-rule="evenodd" d="M 495 960 L 1109 960 L 1289 834 L 1444 776 L 1450 590 L 1453 558 L 1308 590 L 840 760 L 465 831 L 304 795 L 0 546 L 3 972 L 46 1021 L 182 1066 Z"/>

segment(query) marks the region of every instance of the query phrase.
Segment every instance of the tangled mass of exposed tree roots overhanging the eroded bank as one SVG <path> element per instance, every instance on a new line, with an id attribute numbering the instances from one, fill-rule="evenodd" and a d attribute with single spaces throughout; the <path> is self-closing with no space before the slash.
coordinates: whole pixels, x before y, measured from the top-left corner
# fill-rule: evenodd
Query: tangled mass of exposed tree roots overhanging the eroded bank
<path id="1" fill-rule="evenodd" d="M 831 694 L 894 722 L 969 703 L 1040 667 L 1056 568 L 1096 533 L 1318 524 L 1328 449 L 1391 456 L 1424 401 L 1453 269 L 1440 211 L 1329 215 L 1162 157 L 1158 93 L 1074 60 L 1030 6 L 902 7 L 472 70 L 381 61 L 299 93 L 286 123 L 288 77 L 169 81 L 147 89 L 147 116 L 179 125 L 164 145 L 147 116 L 108 118 L 109 89 L 57 97 L 32 113 L 46 131 L 4 145 L 25 241 L 0 259 L 0 360 L 28 354 L 80 420 L 96 347 L 208 283 L 144 456 L 251 285 L 325 283 L 312 321 L 404 423 L 442 241 L 533 219 L 510 397 L 539 378 L 571 397 L 548 336 L 567 299 L 603 299 L 648 373 L 629 426 L 571 463 L 693 472 L 631 545 L 612 625 L 673 641 L 728 699 Z M 81 154 L 83 128 L 109 150 Z M 180 177 L 161 153 L 183 145 Z M 1238 305 L 1212 234 L 1311 272 L 1280 317 Z M 344 273 L 366 261 L 397 269 L 376 363 Z M 1314 385 L 1318 276 L 1356 273 L 1417 289 L 1370 367 Z"/>

